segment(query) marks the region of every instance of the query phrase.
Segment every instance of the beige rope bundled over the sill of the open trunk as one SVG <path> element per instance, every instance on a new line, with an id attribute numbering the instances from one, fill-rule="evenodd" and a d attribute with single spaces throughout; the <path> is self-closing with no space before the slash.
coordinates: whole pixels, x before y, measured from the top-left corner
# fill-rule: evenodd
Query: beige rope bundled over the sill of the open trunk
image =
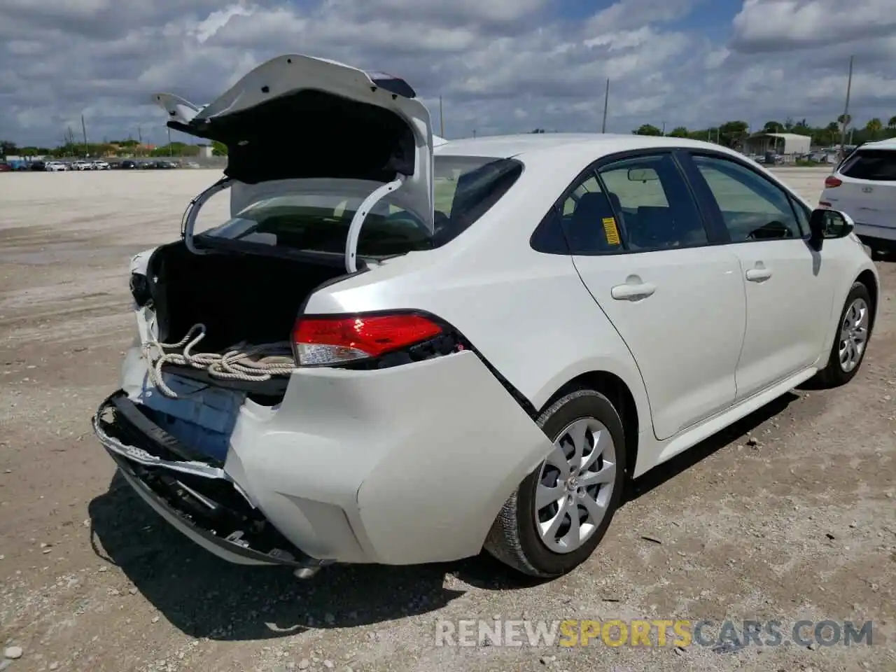
<path id="1" fill-rule="evenodd" d="M 218 352 L 194 354 L 192 349 L 203 338 L 205 338 L 205 325 L 200 323 L 194 324 L 177 343 L 160 343 L 150 337 L 143 344 L 142 352 L 150 380 L 159 392 L 171 399 L 177 399 L 177 393 L 162 379 L 162 366 L 166 364 L 192 366 L 205 370 L 215 378 L 253 383 L 271 380 L 274 375 L 290 375 L 296 370 L 296 359 L 289 341 L 252 347 L 238 344 L 223 354 Z M 182 352 L 166 351 L 181 348 Z"/>

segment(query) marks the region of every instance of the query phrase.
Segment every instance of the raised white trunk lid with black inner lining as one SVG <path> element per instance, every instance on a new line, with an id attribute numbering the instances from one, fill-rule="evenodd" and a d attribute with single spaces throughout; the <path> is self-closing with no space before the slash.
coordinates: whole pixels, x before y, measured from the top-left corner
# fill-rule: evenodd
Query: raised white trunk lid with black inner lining
<path id="1" fill-rule="evenodd" d="M 432 231 L 433 132 L 407 82 L 314 56 L 273 58 L 209 105 L 153 100 L 168 126 L 227 146 L 237 185 L 300 179 L 401 179 L 402 201 Z"/>

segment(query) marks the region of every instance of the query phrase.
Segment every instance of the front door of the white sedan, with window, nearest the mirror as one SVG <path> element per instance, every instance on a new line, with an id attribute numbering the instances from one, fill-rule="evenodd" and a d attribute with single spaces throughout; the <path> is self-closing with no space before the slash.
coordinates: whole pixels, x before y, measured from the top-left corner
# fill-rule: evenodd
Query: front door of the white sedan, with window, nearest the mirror
<path id="1" fill-rule="evenodd" d="M 812 366 L 830 337 L 836 264 L 808 245 L 806 206 L 735 157 L 692 152 L 737 254 L 746 335 L 737 363 L 744 399 Z"/>

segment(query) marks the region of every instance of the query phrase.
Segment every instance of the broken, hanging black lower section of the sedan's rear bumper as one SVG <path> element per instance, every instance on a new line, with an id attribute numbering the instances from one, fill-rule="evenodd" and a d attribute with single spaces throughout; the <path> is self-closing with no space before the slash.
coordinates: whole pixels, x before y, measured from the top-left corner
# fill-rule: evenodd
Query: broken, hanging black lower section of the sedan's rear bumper
<path id="1" fill-rule="evenodd" d="M 190 449 L 142 414 L 124 392 L 104 401 L 93 430 L 122 476 L 159 515 L 196 544 L 235 564 L 331 564 L 280 534 L 213 460 Z"/>

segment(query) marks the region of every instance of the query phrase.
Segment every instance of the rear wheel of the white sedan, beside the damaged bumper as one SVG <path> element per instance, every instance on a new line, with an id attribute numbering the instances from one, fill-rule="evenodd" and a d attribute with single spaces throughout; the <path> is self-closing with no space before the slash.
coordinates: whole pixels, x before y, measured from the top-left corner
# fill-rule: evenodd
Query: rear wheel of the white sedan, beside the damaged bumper
<path id="1" fill-rule="evenodd" d="M 586 389 L 554 401 L 538 426 L 554 449 L 508 497 L 485 547 L 521 573 L 552 578 L 607 533 L 625 482 L 625 431 L 607 397 Z"/>

